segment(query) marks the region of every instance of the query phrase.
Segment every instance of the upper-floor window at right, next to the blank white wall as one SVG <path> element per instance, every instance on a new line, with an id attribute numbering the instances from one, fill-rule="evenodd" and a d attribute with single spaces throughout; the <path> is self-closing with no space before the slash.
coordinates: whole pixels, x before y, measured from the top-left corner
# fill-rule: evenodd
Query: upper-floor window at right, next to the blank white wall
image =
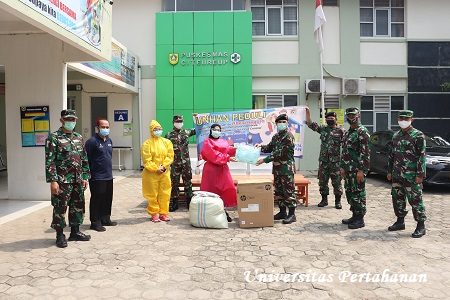
<path id="1" fill-rule="evenodd" d="M 360 0 L 360 36 L 404 37 L 404 0 Z"/>

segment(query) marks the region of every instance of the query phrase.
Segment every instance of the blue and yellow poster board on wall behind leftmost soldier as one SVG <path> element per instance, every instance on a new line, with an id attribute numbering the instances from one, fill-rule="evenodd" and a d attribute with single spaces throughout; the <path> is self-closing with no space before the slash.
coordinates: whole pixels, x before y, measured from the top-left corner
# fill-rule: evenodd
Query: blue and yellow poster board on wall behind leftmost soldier
<path id="1" fill-rule="evenodd" d="M 21 106 L 22 147 L 43 147 L 50 133 L 48 106 Z"/>

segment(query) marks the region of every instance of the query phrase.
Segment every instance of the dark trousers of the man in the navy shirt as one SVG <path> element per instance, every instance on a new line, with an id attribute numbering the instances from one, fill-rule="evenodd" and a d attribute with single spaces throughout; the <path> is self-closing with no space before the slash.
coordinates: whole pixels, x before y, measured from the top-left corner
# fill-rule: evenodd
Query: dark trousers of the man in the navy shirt
<path id="1" fill-rule="evenodd" d="M 89 181 L 91 202 L 89 216 L 91 223 L 110 220 L 113 197 L 113 180 Z"/>

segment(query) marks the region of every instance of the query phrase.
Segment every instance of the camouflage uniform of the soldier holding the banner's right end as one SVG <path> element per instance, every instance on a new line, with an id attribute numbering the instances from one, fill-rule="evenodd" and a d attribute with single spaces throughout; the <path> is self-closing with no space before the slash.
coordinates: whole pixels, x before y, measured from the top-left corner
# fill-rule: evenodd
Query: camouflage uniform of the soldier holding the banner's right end
<path id="1" fill-rule="evenodd" d="M 339 162 L 341 159 L 341 144 L 344 136 L 344 129 L 340 126 L 332 128 L 328 125 L 319 126 L 316 122 L 311 122 L 308 127 L 320 134 L 320 155 L 319 155 L 319 190 L 322 196 L 329 194 L 328 180 L 331 177 L 333 192 L 335 196 L 342 195 L 341 175 L 339 173 Z"/>

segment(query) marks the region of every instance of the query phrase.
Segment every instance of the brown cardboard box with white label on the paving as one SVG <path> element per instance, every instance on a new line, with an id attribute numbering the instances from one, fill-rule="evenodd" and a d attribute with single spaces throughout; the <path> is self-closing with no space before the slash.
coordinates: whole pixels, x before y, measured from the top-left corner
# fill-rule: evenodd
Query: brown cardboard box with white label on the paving
<path id="1" fill-rule="evenodd" d="M 273 226 L 273 186 L 271 181 L 238 184 L 239 227 Z"/>

